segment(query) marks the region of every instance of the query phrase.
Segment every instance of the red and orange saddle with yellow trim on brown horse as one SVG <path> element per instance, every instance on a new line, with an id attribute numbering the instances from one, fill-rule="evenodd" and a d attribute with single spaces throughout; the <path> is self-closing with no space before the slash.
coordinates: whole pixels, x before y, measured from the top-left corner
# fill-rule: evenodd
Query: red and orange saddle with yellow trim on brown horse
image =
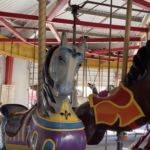
<path id="1" fill-rule="evenodd" d="M 118 89 L 108 97 L 89 96 L 90 107 L 94 109 L 96 124 L 113 125 L 119 119 L 124 127 L 144 115 L 133 97 L 133 93 L 121 82 Z"/>

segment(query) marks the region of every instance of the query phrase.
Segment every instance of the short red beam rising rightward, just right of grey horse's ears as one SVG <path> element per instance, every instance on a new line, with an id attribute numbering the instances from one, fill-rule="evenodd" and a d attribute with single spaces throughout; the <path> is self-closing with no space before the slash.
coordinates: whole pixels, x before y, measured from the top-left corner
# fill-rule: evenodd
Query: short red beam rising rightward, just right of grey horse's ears
<path id="1" fill-rule="evenodd" d="M 129 50 L 136 50 L 136 49 L 139 49 L 139 46 L 130 46 L 129 47 Z M 123 50 L 124 50 L 123 47 L 112 48 L 111 52 L 120 52 L 120 51 L 123 51 Z M 94 51 L 91 51 L 91 52 L 88 52 L 88 53 L 90 53 L 90 54 L 103 54 L 103 53 L 108 53 L 108 52 L 109 52 L 109 49 L 101 49 L 101 50 L 94 50 Z"/>

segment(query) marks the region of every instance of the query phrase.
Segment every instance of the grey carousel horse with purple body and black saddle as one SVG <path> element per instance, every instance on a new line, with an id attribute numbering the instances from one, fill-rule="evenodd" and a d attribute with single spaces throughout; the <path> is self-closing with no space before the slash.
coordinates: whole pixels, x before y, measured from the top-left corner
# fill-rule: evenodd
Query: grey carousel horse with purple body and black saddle
<path id="1" fill-rule="evenodd" d="M 1 107 L 9 150 L 85 150 L 84 125 L 72 110 L 68 95 L 84 59 L 85 40 L 78 47 L 62 33 L 61 45 L 48 51 L 43 67 L 42 99 L 33 108 Z"/>

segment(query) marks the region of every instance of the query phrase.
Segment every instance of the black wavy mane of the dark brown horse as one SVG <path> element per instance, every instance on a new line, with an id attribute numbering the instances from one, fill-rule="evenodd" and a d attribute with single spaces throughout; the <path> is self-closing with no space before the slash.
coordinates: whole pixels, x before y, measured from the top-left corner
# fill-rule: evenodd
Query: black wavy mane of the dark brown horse
<path id="1" fill-rule="evenodd" d="M 126 87 L 131 86 L 140 80 L 147 70 L 147 62 L 150 57 L 150 40 L 147 41 L 146 46 L 141 47 L 137 54 L 133 57 L 133 65 L 130 67 L 130 71 L 126 75 L 124 85 Z"/>

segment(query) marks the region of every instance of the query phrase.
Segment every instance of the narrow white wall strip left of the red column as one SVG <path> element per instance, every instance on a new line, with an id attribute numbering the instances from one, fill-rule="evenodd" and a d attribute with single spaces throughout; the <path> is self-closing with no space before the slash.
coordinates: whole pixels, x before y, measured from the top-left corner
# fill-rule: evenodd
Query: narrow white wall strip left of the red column
<path id="1" fill-rule="evenodd" d="M 6 58 L 5 56 L 0 55 L 0 99 L 1 99 L 2 84 L 5 84 L 5 67 L 6 67 Z"/>

